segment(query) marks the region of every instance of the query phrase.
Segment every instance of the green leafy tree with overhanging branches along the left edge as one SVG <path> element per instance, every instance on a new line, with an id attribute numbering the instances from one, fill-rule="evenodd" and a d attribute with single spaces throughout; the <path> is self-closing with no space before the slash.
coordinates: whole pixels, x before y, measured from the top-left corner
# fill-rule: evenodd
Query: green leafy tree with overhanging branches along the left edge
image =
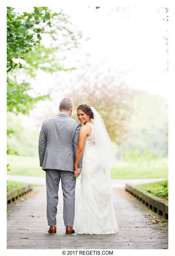
<path id="1" fill-rule="evenodd" d="M 47 7 L 32 9 L 19 14 L 15 8 L 7 7 L 7 111 L 16 115 L 29 114 L 36 102 L 50 98 L 48 94 L 32 96 L 29 92 L 33 88 L 27 79 L 35 78 L 39 69 L 51 73 L 75 69 L 65 68 L 64 57 L 58 55 L 78 47 L 82 38 L 62 10 L 53 13 Z M 42 44 L 43 36 L 49 38 L 49 47 Z M 12 133 L 13 129 L 7 130 L 8 137 Z M 17 152 L 7 144 L 7 154 Z"/>

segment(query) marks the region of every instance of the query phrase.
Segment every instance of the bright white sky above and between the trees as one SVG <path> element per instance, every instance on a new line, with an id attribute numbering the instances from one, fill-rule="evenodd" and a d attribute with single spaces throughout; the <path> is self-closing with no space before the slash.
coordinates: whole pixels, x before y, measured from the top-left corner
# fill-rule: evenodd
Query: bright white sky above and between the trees
<path id="1" fill-rule="evenodd" d="M 15 8 L 17 12 L 28 11 L 29 7 Z M 50 7 L 59 12 L 58 7 Z M 82 41 L 81 50 L 68 53 L 65 66 L 80 67 L 87 61 L 92 66 L 99 65 L 98 70 L 105 72 L 108 68 L 124 71 L 125 84 L 131 88 L 147 91 L 168 98 L 167 90 L 167 22 L 164 7 L 81 7 L 67 5 L 63 11 L 71 16 L 71 21 L 83 33 L 90 37 Z M 49 44 L 46 39 L 45 45 Z M 87 57 L 87 54 L 90 54 Z M 66 66 L 66 67 L 67 67 Z M 70 79 L 74 81 L 80 69 L 76 71 L 58 72 L 57 75 L 38 72 L 36 80 L 31 81 L 38 92 L 48 93 L 51 87 L 71 87 Z M 60 85 L 59 85 L 60 88 Z M 66 95 L 60 91 L 54 95 L 50 108 L 58 108 L 59 101 Z M 40 108 L 47 106 L 47 102 L 38 104 L 31 112 L 35 116 Z M 26 117 L 27 118 L 27 117 Z"/>

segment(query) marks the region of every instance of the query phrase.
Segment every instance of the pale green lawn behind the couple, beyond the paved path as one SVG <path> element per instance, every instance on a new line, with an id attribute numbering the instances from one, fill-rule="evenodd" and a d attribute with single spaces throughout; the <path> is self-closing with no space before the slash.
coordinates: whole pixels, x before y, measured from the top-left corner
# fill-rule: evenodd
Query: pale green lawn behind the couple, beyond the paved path
<path id="1" fill-rule="evenodd" d="M 8 155 L 7 162 L 10 164 L 10 171 L 7 174 L 45 177 L 39 157 Z M 145 167 L 118 162 L 117 167 L 111 168 L 111 177 L 112 179 L 167 178 L 168 166 Z"/>

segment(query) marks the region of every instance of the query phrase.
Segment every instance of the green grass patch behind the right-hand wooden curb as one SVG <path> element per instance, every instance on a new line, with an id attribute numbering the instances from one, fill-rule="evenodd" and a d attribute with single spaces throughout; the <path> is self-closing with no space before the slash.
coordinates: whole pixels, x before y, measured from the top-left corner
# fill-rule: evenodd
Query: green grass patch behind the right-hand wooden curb
<path id="1" fill-rule="evenodd" d="M 150 192 L 151 194 L 155 195 L 155 196 L 159 196 L 160 198 L 166 198 L 165 196 L 161 196 L 161 195 L 156 195 L 156 193 L 158 191 L 161 191 L 163 188 L 163 185 L 165 184 L 165 182 L 167 182 L 168 184 L 168 180 L 164 180 L 164 181 L 156 181 L 156 182 L 150 182 L 150 183 L 146 183 L 146 184 L 139 184 L 139 185 L 135 185 L 138 188 L 141 188 L 143 190 L 146 190 L 148 192 Z"/>

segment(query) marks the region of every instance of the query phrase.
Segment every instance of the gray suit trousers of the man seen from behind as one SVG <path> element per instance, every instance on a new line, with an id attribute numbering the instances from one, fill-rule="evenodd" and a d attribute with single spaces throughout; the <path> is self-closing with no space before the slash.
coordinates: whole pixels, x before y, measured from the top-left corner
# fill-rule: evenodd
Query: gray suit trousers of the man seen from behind
<path id="1" fill-rule="evenodd" d="M 49 226 L 56 225 L 58 188 L 61 178 L 63 192 L 63 219 L 65 226 L 73 226 L 75 215 L 75 185 L 76 178 L 71 171 L 46 169 L 47 187 L 47 221 Z"/>

